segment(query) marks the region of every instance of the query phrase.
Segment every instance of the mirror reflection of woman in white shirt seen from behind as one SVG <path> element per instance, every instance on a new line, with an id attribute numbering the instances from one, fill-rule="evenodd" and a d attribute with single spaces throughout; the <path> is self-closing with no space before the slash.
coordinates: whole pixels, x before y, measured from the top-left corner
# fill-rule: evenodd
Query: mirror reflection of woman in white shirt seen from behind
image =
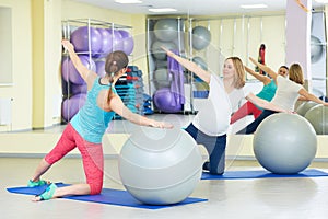
<path id="1" fill-rule="evenodd" d="M 259 126 L 259 124 L 267 118 L 268 116 L 279 113 L 293 113 L 296 101 L 301 97 L 302 100 L 313 101 L 319 104 L 328 105 L 320 99 L 315 95 L 308 93 L 304 88 L 304 79 L 303 79 L 303 70 L 298 64 L 293 64 L 289 70 L 289 79 L 276 73 L 269 67 L 261 65 L 256 61 L 254 58 L 249 58 L 249 60 L 258 66 L 262 71 L 266 71 L 273 80 L 277 81 L 277 91 L 273 99 L 268 102 L 262 99 L 255 96 L 254 94 L 249 94 L 247 100 L 253 102 L 254 104 L 259 105 L 265 108 L 265 111 L 257 117 L 253 123 L 248 126 L 239 130 L 237 134 L 254 134 Z"/>

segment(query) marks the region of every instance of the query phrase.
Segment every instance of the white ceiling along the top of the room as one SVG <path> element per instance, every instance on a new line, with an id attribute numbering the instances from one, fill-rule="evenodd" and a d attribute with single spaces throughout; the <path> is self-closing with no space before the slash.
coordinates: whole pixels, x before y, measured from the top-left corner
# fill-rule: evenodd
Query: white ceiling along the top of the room
<path id="1" fill-rule="evenodd" d="M 114 0 L 75 0 L 92 5 L 121 11 L 125 13 L 141 13 L 154 15 L 149 8 L 175 8 L 172 14 L 183 15 L 219 15 L 231 13 L 262 13 L 267 11 L 284 11 L 288 0 L 142 0 L 140 4 L 120 4 Z M 294 1 L 294 0 L 291 0 Z M 242 9 L 241 4 L 267 4 L 266 9 Z M 321 8 L 313 0 L 313 8 Z M 165 13 L 169 14 L 169 13 Z M 160 15 L 160 14 L 159 14 Z"/>

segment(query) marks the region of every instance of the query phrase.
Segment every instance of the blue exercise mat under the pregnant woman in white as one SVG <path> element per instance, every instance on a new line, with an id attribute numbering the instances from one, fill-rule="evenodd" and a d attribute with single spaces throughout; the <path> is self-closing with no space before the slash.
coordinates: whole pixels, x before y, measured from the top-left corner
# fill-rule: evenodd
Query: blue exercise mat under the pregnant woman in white
<path id="1" fill-rule="evenodd" d="M 273 174 L 266 170 L 258 171 L 226 171 L 223 175 L 211 175 L 203 172 L 201 180 L 245 180 L 269 177 L 318 177 L 328 176 L 328 173 L 315 169 L 308 169 L 297 174 Z"/>

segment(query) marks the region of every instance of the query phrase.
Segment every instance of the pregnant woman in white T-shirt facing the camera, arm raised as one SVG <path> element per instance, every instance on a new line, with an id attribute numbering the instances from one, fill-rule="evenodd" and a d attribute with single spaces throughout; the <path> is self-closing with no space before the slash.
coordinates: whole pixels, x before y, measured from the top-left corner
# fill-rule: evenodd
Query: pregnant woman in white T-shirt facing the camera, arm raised
<path id="1" fill-rule="evenodd" d="M 186 128 L 186 131 L 197 141 L 203 145 L 210 155 L 210 161 L 203 164 L 203 170 L 210 174 L 223 174 L 225 168 L 226 131 L 231 115 L 241 101 L 245 97 L 245 69 L 238 57 L 225 59 L 223 66 L 223 79 L 210 73 L 197 64 L 181 58 L 163 48 L 167 56 L 177 60 L 189 71 L 196 73 L 210 87 L 209 97 L 202 104 Z"/>

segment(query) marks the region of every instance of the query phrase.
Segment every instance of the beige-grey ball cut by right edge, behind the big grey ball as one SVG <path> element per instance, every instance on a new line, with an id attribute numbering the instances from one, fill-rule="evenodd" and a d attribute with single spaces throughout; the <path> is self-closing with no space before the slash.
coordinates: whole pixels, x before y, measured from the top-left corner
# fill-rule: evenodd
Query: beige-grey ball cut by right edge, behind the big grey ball
<path id="1" fill-rule="evenodd" d="M 312 124 L 317 135 L 328 135 L 328 107 L 318 104 L 305 114 L 305 118 Z"/>

